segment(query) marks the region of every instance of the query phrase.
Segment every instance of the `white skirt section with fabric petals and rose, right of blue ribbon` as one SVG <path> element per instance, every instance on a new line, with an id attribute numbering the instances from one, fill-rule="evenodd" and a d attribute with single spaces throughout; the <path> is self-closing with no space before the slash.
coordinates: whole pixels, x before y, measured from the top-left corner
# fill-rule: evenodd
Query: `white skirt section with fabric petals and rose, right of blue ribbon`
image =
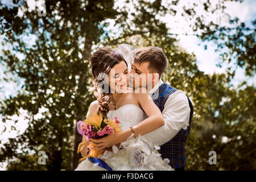
<path id="1" fill-rule="evenodd" d="M 138 170 L 141 168 L 148 170 L 173 170 L 168 165 L 168 159 L 163 160 L 161 154 L 155 149 L 159 147 L 154 146 L 152 142 L 143 136 L 133 138 L 133 135 L 131 135 L 125 142 L 121 143 L 120 148 L 122 149 L 113 148 L 112 158 L 106 160 L 114 169 L 122 169 L 122 166 L 129 164 Z M 129 167 L 126 170 L 130 170 Z"/>

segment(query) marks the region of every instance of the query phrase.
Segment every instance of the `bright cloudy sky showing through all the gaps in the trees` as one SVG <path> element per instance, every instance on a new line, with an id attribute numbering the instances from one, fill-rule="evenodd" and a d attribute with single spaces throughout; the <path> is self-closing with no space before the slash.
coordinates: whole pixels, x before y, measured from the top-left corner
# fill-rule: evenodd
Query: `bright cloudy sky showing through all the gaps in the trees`
<path id="1" fill-rule="evenodd" d="M 9 4 L 9 0 L 3 0 L 3 4 Z M 31 9 L 34 9 L 35 6 L 35 1 L 30 0 L 27 1 L 28 5 L 30 5 Z M 42 1 L 43 2 L 43 1 Z M 42 3 L 40 2 L 40 3 Z M 182 6 L 187 6 L 189 3 L 193 2 L 192 0 L 180 0 L 180 7 Z M 122 1 L 118 1 L 115 6 L 123 5 Z M 242 3 L 239 2 L 228 2 L 226 3 L 226 13 L 229 13 L 233 18 L 238 17 L 242 22 L 245 22 L 247 25 L 250 24 L 252 20 L 255 19 L 256 17 L 256 1 L 254 0 L 245 0 Z M 131 10 L 132 11 L 132 10 Z M 200 10 L 198 10 L 200 11 Z M 21 13 L 19 11 L 19 13 Z M 203 11 L 202 11 L 203 13 Z M 217 15 L 212 15 L 211 18 L 214 19 L 216 18 Z M 160 17 L 164 22 L 167 23 L 167 26 L 172 27 L 170 33 L 179 33 L 183 34 L 184 30 L 188 30 L 188 24 L 180 18 L 179 13 L 170 18 L 170 16 L 167 17 Z M 224 23 L 225 21 L 222 21 L 221 23 Z M 176 28 L 175 28 L 176 27 Z M 185 33 L 185 32 L 184 32 Z M 224 73 L 225 69 L 228 67 L 228 64 L 223 64 L 222 68 L 218 68 L 216 64 L 220 60 L 220 56 L 218 52 L 215 52 L 214 50 L 216 49 L 216 44 L 209 42 L 206 43 L 208 46 L 208 49 L 204 49 L 205 43 L 202 43 L 200 39 L 198 39 L 196 36 L 193 35 L 179 35 L 177 36 L 178 39 L 180 39 L 179 44 L 181 47 L 183 47 L 187 52 L 189 53 L 194 53 L 197 58 L 197 65 L 200 69 L 200 71 L 204 71 L 207 74 L 212 75 L 214 72 L 216 73 Z M 1 37 L 0 37 L 1 39 Z M 198 46 L 198 44 L 201 44 L 201 46 Z M 0 48 L 2 48 L 0 46 Z M 0 64 L 0 77 L 3 74 L 3 66 Z M 11 76 L 11 75 L 10 75 Z M 249 78 L 245 77 L 244 75 L 244 70 L 242 68 L 236 68 L 236 76 L 233 79 L 233 84 L 238 85 L 240 82 L 243 80 L 247 80 L 247 84 L 256 84 L 256 78 Z M 20 89 L 20 86 L 17 86 L 16 84 L 10 82 L 1 82 L 0 85 L 3 86 L 3 92 L 0 92 L 0 99 L 3 97 L 9 97 L 15 96 L 17 90 Z M 42 112 L 46 110 L 45 108 L 42 108 Z M 27 114 L 26 111 L 20 110 L 20 113 L 22 113 L 22 116 L 18 117 L 17 115 L 14 115 L 13 117 L 10 117 L 10 122 L 7 124 L 3 124 L 1 122 L 0 118 L 0 140 L 2 143 L 7 142 L 8 138 L 14 138 L 16 135 L 21 134 L 24 132 L 26 127 L 28 126 L 28 121 L 26 118 Z M 42 117 L 42 114 L 38 114 L 35 116 L 36 118 Z M 11 125 L 14 125 L 13 120 L 18 119 L 18 123 L 16 123 L 17 128 L 19 129 L 19 132 L 11 130 Z M 7 127 L 5 133 L 1 133 Z M 0 144 L 1 146 L 1 144 Z M 5 170 L 6 164 L 3 164 L 3 166 L 0 166 L 0 170 Z"/>

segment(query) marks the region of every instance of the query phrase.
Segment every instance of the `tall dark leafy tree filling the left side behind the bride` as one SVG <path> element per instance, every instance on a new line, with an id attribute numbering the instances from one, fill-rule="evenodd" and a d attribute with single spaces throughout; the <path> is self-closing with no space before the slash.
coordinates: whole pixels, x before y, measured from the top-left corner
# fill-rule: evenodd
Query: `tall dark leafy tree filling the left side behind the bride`
<path id="1" fill-rule="evenodd" d="M 2 44 L 13 47 L 2 50 L 0 60 L 7 64 L 10 72 L 24 78 L 25 84 L 17 96 L 2 102 L 1 114 L 19 114 L 23 108 L 30 115 L 30 125 L 24 134 L 5 144 L 1 160 L 23 158 L 25 149 L 34 154 L 42 150 L 49 158 L 47 169 L 72 168 L 72 150 L 76 154 L 81 140 L 76 134 L 72 149 L 74 122 L 84 119 L 93 100 L 88 90 L 92 85 L 88 57 L 92 45 L 104 34 L 106 25 L 102 21 L 118 14 L 113 5 L 113 1 L 46 1 L 47 16 L 39 16 L 38 10 L 28 10 L 23 1 L 22 18 L 17 15 L 18 7 L 9 9 L 2 5 L 6 35 Z M 35 44 L 29 46 L 23 38 L 32 35 L 36 36 Z M 15 43 L 18 46 L 14 46 Z M 18 59 L 17 52 L 24 55 L 23 60 Z M 48 111 L 36 120 L 34 115 L 41 107 Z M 2 121 L 5 122 L 6 117 Z M 26 144 L 22 152 L 16 152 L 18 143 Z M 74 156 L 76 164 L 79 155 Z"/>

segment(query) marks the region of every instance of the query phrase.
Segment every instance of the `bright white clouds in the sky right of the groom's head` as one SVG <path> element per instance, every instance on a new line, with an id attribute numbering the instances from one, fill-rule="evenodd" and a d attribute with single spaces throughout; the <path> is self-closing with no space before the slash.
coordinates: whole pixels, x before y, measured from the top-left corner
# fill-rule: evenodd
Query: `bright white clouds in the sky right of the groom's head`
<path id="1" fill-rule="evenodd" d="M 184 5 L 184 1 L 181 1 L 181 5 Z M 226 13 L 229 13 L 230 16 L 232 16 L 233 18 L 237 16 L 242 21 L 251 21 L 253 20 L 253 18 L 255 18 L 253 14 L 255 14 L 256 12 L 256 1 L 249 2 L 247 0 L 243 3 L 227 2 L 226 7 Z M 203 12 L 201 10 L 198 11 L 199 13 Z M 171 29 L 172 33 L 184 34 L 184 30 L 189 29 L 188 25 L 185 23 L 184 18 L 182 18 L 181 16 L 172 17 L 173 18 L 171 18 L 171 16 L 166 16 L 162 20 L 164 22 L 167 22 L 169 27 L 174 27 Z M 217 15 L 212 15 L 210 16 L 210 18 L 212 18 L 212 20 L 217 19 Z M 225 22 L 225 19 L 221 23 L 222 25 L 228 25 L 228 22 Z M 175 27 L 175 25 L 177 27 Z M 193 35 L 178 35 L 177 38 L 180 39 L 179 45 L 183 47 L 188 53 L 195 53 L 197 58 L 197 65 L 200 71 L 204 71 L 205 73 L 210 75 L 212 75 L 212 73 L 214 72 L 225 73 L 226 68 L 230 67 L 232 64 L 234 65 L 234 63 L 224 63 L 222 64 L 222 68 L 216 66 L 216 64 L 221 62 L 221 57 L 219 55 L 219 52 L 215 52 L 217 46 L 212 42 L 203 43 L 200 39 Z M 201 44 L 201 46 L 198 46 L 198 44 Z M 206 50 L 204 49 L 204 46 L 202 44 L 207 45 Z M 236 75 L 233 79 L 233 84 L 236 86 L 240 84 L 243 80 L 247 81 L 247 85 L 256 83 L 256 78 L 248 78 L 245 76 L 244 69 L 236 68 Z"/>

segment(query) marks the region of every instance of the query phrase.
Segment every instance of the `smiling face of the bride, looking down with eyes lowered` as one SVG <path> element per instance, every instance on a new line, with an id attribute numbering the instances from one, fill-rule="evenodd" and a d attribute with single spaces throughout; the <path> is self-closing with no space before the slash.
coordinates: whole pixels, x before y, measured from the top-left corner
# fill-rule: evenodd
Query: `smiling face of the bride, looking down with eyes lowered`
<path id="1" fill-rule="evenodd" d="M 127 91 L 129 77 L 125 61 L 115 64 L 108 77 L 111 93 L 124 93 Z"/>

